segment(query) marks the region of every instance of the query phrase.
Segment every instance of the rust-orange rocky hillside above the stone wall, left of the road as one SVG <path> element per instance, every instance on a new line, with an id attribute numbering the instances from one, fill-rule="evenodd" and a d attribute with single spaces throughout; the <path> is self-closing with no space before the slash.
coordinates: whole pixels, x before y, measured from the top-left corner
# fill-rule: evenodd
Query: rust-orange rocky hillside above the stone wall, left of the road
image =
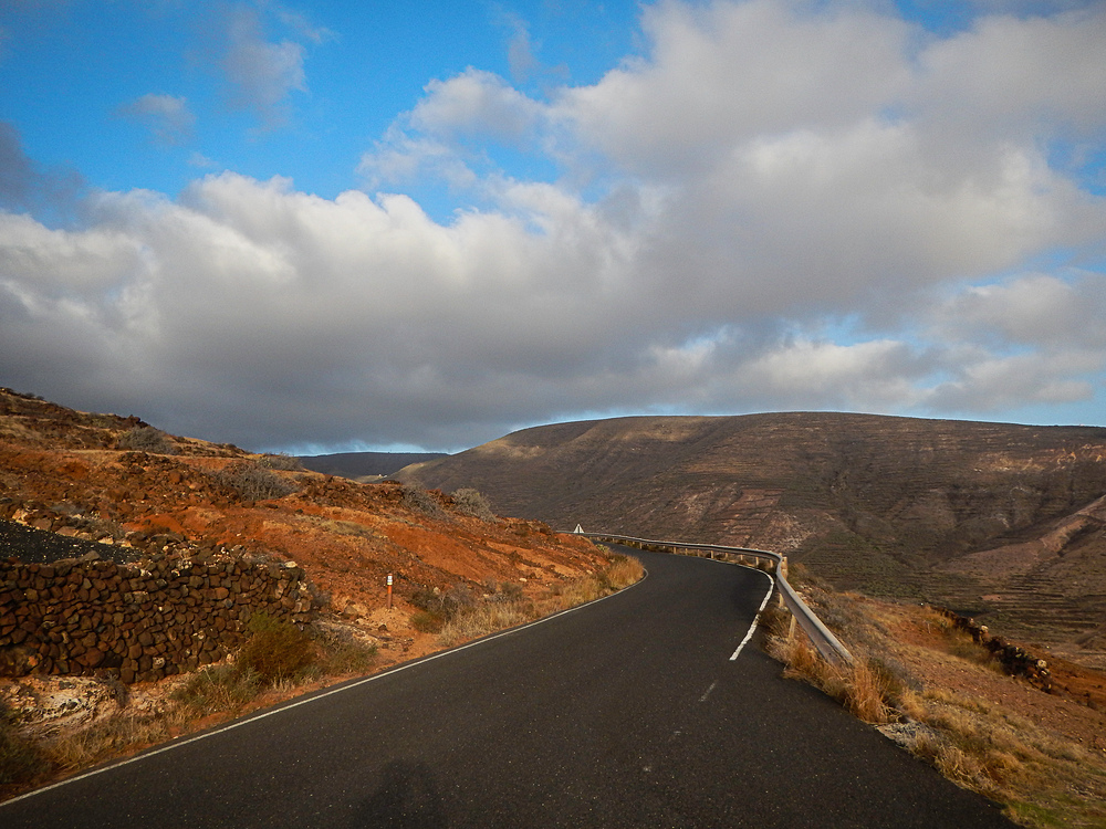
<path id="1" fill-rule="evenodd" d="M 420 636 L 408 631 L 407 600 L 418 591 L 462 586 L 479 596 L 503 583 L 536 591 L 605 560 L 591 543 L 538 522 L 473 517 L 442 493 L 422 493 L 429 497 L 413 504 L 398 483 L 359 484 L 291 460 L 0 389 L 0 557 L 73 556 L 62 543 L 71 539 L 83 543 L 76 555 L 94 544 L 119 562 L 294 560 L 324 610 L 366 623 L 382 621 L 390 573 L 398 616 L 388 623 L 392 634 L 397 625 L 410 632 L 401 644 L 413 652 Z M 278 492 L 257 491 L 273 481 Z M 25 533 L 4 531 L 10 522 L 50 531 L 51 543 L 29 549 Z M 377 626 L 366 629 L 375 633 Z M 379 638 L 386 648 L 394 636 Z M 421 638 L 430 647 L 430 637 Z"/>

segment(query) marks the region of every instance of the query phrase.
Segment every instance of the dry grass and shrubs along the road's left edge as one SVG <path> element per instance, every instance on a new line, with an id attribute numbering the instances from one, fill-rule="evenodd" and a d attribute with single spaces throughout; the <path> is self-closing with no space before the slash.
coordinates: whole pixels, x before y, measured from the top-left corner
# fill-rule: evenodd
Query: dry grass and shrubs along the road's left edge
<path id="1" fill-rule="evenodd" d="M 445 594 L 422 591 L 416 594 L 419 609 L 410 625 L 437 633 L 437 644 L 446 648 L 602 598 L 643 575 L 636 559 L 614 555 L 602 570 L 559 583 L 536 598 L 528 598 L 520 584 L 510 581 L 489 581 L 481 594 L 463 586 Z M 355 627 L 333 620 L 301 630 L 257 613 L 250 631 L 233 660 L 177 679 L 156 705 L 132 704 L 127 686 L 104 681 L 112 685 L 115 710 L 83 727 L 31 739 L 18 715 L 0 700 L 0 799 L 389 664 L 382 664 L 377 646 L 367 643 Z"/>

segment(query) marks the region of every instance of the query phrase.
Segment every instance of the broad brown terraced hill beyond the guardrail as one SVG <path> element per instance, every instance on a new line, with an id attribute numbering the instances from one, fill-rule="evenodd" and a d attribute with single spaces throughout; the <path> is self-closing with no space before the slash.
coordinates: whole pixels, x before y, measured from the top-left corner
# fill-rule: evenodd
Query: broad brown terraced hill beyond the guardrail
<path id="1" fill-rule="evenodd" d="M 1106 639 L 1103 428 L 616 418 L 526 429 L 397 476 L 473 486 L 505 515 L 559 528 L 779 550 L 838 587 L 1042 640 Z"/>

